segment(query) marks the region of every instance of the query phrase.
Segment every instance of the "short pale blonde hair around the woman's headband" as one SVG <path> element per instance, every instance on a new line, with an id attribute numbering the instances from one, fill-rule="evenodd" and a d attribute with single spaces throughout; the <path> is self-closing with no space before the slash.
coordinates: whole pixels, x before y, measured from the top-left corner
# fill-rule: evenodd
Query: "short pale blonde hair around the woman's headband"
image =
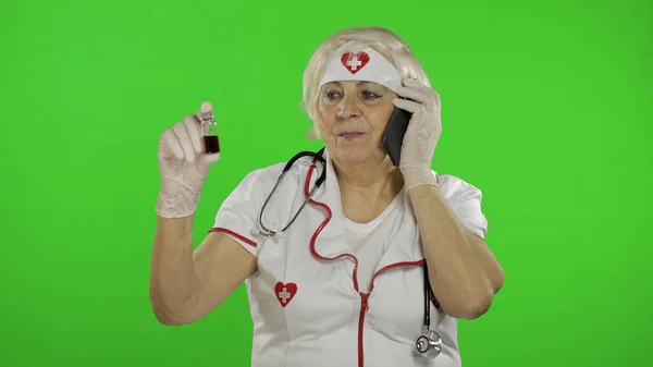
<path id="1" fill-rule="evenodd" d="M 409 77 L 426 86 L 431 86 L 423 68 L 406 42 L 396 34 L 377 26 L 343 29 L 326 38 L 318 47 L 304 71 L 300 105 L 313 122 L 312 127 L 308 131 L 309 139 L 321 137 L 320 115 L 318 113 L 320 90 L 318 90 L 318 87 L 324 75 L 325 65 L 336 53 L 358 52 L 366 47 L 370 47 L 382 54 L 399 71 L 402 78 Z"/>

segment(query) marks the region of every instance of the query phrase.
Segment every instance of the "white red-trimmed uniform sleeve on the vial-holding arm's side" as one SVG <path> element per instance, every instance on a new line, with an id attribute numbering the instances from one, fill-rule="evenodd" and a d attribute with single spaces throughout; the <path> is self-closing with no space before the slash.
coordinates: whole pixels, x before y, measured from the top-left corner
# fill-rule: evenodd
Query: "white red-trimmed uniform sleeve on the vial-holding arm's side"
<path id="1" fill-rule="evenodd" d="M 263 186 L 258 171 L 248 173 L 224 199 L 209 232 L 223 232 L 255 257 L 259 241 L 258 211 L 263 203 Z"/>

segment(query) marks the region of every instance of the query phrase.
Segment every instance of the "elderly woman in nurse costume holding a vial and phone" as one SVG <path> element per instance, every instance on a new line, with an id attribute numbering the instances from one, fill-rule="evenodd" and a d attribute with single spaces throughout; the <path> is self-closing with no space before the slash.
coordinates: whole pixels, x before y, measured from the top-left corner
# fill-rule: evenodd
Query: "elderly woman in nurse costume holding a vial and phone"
<path id="1" fill-rule="evenodd" d="M 245 176 L 196 250 L 194 211 L 220 158 L 201 140 L 211 105 L 163 132 L 157 318 L 195 322 L 245 282 L 254 367 L 460 366 L 456 320 L 483 315 L 504 276 L 481 192 L 431 169 L 440 98 L 426 73 L 393 33 L 346 29 L 309 61 L 304 103 L 324 149 Z M 410 113 L 398 166 L 381 144 L 395 109 Z"/>

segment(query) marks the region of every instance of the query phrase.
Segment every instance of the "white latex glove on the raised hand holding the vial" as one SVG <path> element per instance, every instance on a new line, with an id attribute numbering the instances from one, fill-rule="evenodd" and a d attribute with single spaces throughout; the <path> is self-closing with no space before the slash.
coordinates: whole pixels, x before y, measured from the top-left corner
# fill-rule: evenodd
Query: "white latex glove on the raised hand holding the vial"
<path id="1" fill-rule="evenodd" d="M 184 218 L 197 209 L 199 196 L 209 168 L 220 159 L 220 152 L 206 154 L 199 117 L 212 112 L 209 102 L 201 103 L 196 115 L 188 114 L 182 122 L 161 134 L 159 171 L 161 188 L 156 211 L 164 218 Z"/>

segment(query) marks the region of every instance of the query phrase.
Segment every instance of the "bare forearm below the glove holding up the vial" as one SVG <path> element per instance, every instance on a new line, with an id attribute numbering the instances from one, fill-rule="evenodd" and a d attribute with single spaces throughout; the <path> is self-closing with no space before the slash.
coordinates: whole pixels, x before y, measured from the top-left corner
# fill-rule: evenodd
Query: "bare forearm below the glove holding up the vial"
<path id="1" fill-rule="evenodd" d="M 193 266 L 193 216 L 158 217 L 151 258 L 150 302 L 159 321 L 181 325 L 198 303 Z"/>

